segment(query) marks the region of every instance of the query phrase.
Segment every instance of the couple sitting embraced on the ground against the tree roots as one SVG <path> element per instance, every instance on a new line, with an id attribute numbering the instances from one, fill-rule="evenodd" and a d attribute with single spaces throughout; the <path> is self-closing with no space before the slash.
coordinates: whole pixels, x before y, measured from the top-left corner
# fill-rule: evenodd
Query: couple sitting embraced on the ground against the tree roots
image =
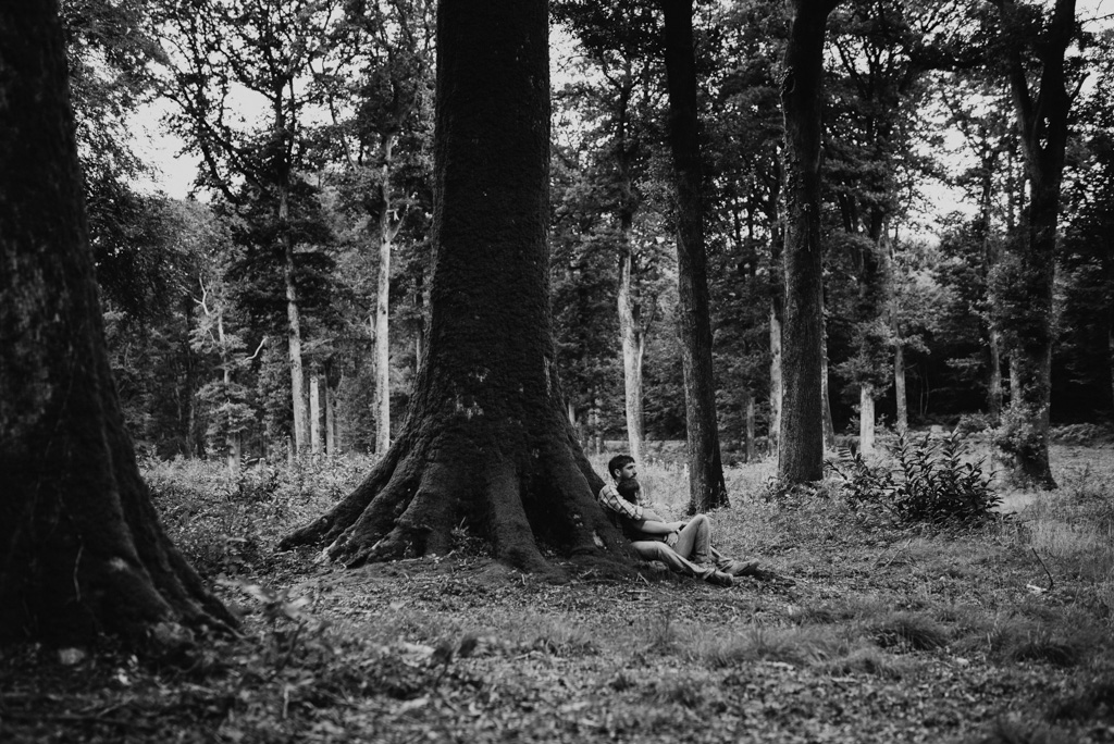
<path id="1" fill-rule="evenodd" d="M 659 560 L 674 571 L 730 587 L 735 576 L 763 577 L 756 560 L 732 560 L 712 547 L 712 522 L 705 515 L 667 522 L 644 506 L 634 458 L 618 454 L 607 463 L 610 482 L 599 490 L 599 503 L 618 520 L 623 533 L 643 560 Z"/>

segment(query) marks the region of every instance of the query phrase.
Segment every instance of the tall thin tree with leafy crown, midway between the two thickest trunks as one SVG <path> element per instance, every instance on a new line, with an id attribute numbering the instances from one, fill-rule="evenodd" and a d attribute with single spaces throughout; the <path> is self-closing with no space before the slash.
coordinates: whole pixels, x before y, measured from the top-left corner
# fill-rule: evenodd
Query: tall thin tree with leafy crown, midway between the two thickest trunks
<path id="1" fill-rule="evenodd" d="M 302 298 L 291 214 L 297 169 L 307 156 L 306 108 L 320 99 L 309 85 L 314 65 L 339 48 L 331 32 L 335 8 L 315 0 L 199 0 L 166 8 L 165 42 L 176 66 L 164 95 L 202 155 L 206 183 L 231 204 L 253 194 L 272 205 L 274 239 L 284 256 L 287 352 L 294 449 L 310 446 L 303 371 Z M 247 92 L 263 101 L 266 124 L 242 128 L 232 100 Z M 237 189 L 238 182 L 248 185 Z"/>

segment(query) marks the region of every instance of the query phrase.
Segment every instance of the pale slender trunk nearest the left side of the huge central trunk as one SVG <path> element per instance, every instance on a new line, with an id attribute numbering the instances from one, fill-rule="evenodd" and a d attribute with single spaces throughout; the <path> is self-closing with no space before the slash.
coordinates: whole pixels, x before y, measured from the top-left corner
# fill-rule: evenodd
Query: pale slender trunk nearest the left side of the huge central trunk
<path id="1" fill-rule="evenodd" d="M 375 452 L 382 454 L 391 446 L 391 344 L 390 293 L 391 245 L 391 154 L 394 136 L 383 137 L 383 163 L 380 168 L 379 215 L 379 285 L 375 293 Z"/>

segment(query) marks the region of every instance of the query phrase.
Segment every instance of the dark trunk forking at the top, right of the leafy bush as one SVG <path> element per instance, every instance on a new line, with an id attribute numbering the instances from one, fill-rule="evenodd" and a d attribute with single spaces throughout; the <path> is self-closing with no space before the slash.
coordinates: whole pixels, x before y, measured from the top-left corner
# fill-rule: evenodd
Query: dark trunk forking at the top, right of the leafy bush
<path id="1" fill-rule="evenodd" d="M 1014 27 L 1014 0 L 999 0 L 1005 32 Z M 1055 488 L 1048 460 L 1048 414 L 1052 402 L 1053 290 L 1056 225 L 1067 144 L 1071 97 L 1064 57 L 1075 33 L 1075 0 L 1056 0 L 1040 40 L 1039 91 L 1028 77 L 1015 40 L 1010 52 L 1010 88 L 1029 180 L 1024 238 L 1015 242 L 1005 275 L 1008 297 L 999 319 L 1009 340 L 1010 400 L 999 442 L 1012 456 L 1014 474 L 1044 488 Z"/>

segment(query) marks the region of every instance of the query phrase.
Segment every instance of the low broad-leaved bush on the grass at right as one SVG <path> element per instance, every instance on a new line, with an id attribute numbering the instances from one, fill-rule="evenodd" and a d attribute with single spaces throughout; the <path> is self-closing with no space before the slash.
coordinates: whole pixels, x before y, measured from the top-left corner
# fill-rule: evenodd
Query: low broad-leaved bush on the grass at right
<path id="1" fill-rule="evenodd" d="M 966 462 L 959 434 L 916 442 L 899 434 L 889 448 L 896 467 L 871 466 L 862 454 L 841 450 L 828 468 L 858 508 L 886 512 L 900 522 L 968 523 L 985 518 L 1001 499 L 983 472 L 983 460 Z"/>

